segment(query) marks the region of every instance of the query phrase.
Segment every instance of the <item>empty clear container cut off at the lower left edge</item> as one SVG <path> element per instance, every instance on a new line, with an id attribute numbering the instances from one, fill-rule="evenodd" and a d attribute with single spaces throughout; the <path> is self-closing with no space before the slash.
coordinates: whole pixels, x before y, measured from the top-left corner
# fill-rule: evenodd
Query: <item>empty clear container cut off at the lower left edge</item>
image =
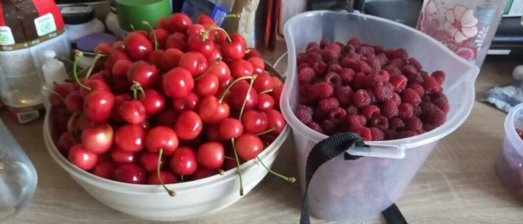
<path id="1" fill-rule="evenodd" d="M 18 213 L 36 184 L 35 167 L 0 119 L 0 221 Z"/>

